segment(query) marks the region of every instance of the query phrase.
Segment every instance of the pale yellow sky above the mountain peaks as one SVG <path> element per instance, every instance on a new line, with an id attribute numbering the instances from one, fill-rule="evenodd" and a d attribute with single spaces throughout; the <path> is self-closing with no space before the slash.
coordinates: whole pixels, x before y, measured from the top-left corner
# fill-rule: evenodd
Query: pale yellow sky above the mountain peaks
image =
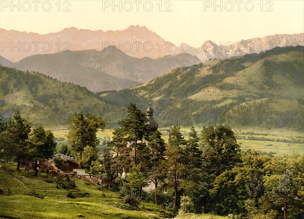
<path id="1" fill-rule="evenodd" d="M 113 5 L 115 6 L 113 8 Z M 176 46 L 304 32 L 304 1 L 0 1 L 0 27 L 46 34 L 66 27 L 146 26 Z"/>

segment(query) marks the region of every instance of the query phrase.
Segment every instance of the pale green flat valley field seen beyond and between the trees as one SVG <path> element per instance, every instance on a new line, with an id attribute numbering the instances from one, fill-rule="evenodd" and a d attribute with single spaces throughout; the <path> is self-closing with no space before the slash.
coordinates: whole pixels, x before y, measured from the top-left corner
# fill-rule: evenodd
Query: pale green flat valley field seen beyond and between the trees
<path id="1" fill-rule="evenodd" d="M 169 139 L 169 127 L 161 127 L 160 130 L 163 134 L 163 139 L 168 142 Z M 201 127 L 196 127 L 199 134 L 202 130 Z M 260 130 L 259 130 L 260 131 Z M 102 140 L 104 137 L 113 137 L 113 129 L 105 129 L 103 132 L 99 132 L 97 136 Z M 181 132 L 184 137 L 188 138 L 188 133 L 190 132 L 189 127 L 181 127 Z M 55 137 L 66 138 L 68 130 L 53 130 Z M 238 142 L 241 144 L 241 149 L 246 151 L 249 149 L 258 150 L 262 152 L 273 152 L 277 155 L 283 156 L 292 155 L 293 153 L 299 153 L 304 155 L 304 133 L 290 129 L 271 129 L 264 132 L 236 132 L 238 137 Z M 247 138 L 255 138 L 254 140 L 248 140 Z M 277 141 L 260 141 L 257 139 L 270 139 Z M 278 141 L 279 140 L 279 141 Z M 285 142 L 284 142 L 285 141 Z M 298 141 L 300 143 L 294 143 Z"/>

